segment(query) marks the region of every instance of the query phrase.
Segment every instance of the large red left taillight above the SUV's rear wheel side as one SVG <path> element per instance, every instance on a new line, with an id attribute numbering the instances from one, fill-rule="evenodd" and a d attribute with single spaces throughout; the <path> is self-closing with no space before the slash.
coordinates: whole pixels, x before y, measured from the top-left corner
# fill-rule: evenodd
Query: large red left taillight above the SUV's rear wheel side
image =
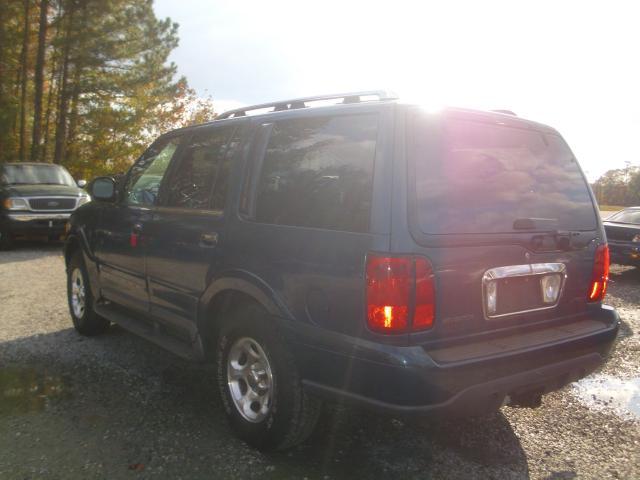
<path id="1" fill-rule="evenodd" d="M 367 325 L 378 333 L 407 333 L 433 326 L 435 286 L 429 261 L 417 256 L 369 254 Z"/>

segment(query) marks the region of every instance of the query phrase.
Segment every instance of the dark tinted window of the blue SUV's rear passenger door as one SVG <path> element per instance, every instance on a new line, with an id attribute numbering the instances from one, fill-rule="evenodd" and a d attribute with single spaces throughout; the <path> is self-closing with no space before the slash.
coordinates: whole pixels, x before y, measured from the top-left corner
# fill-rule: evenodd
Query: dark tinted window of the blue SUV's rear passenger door
<path id="1" fill-rule="evenodd" d="M 229 128 L 216 128 L 197 132 L 185 148 L 178 171 L 169 187 L 168 205 L 180 208 L 210 208 L 211 192 L 222 160 Z M 214 209 L 224 203 L 215 202 Z"/>

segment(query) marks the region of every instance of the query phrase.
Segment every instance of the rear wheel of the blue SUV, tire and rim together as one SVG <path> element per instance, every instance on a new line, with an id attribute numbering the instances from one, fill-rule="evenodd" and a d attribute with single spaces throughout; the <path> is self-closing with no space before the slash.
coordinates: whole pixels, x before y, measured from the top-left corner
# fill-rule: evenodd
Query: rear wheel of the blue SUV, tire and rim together
<path id="1" fill-rule="evenodd" d="M 270 451 L 291 448 L 312 433 L 321 402 L 303 389 L 293 357 L 260 307 L 229 312 L 216 351 L 222 404 L 238 437 Z"/>

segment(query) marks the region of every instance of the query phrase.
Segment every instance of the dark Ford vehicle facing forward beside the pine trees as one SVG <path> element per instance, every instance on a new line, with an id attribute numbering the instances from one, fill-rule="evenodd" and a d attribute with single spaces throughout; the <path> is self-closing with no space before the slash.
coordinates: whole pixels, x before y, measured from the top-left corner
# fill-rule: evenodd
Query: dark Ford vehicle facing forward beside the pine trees
<path id="1" fill-rule="evenodd" d="M 0 164 L 0 248 L 19 237 L 58 239 L 71 213 L 91 197 L 60 165 Z"/>

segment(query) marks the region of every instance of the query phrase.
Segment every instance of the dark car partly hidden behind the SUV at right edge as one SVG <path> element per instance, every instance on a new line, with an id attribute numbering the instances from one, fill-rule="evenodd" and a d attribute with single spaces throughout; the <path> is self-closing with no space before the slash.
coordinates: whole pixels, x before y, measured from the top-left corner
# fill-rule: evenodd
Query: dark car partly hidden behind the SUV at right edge
<path id="1" fill-rule="evenodd" d="M 604 220 L 611 262 L 640 266 L 640 207 L 630 207 Z"/>

